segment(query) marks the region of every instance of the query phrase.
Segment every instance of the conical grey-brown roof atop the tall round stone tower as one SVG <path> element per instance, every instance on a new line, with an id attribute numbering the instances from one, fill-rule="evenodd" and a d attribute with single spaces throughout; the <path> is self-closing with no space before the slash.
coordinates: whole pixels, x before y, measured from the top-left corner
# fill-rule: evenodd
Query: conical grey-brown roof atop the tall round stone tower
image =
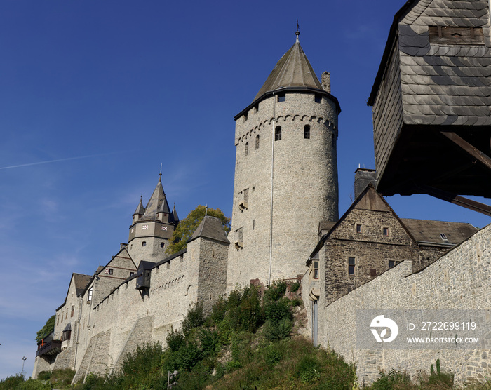
<path id="1" fill-rule="evenodd" d="M 259 99 L 264 93 L 289 87 L 315 88 L 324 91 L 298 39 L 278 61 L 253 101 Z"/>

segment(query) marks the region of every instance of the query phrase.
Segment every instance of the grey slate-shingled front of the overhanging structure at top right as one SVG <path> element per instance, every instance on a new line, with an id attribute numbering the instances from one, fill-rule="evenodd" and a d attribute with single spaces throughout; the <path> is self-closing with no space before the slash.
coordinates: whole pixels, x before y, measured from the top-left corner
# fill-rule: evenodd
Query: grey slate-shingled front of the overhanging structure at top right
<path id="1" fill-rule="evenodd" d="M 491 125 L 487 0 L 408 1 L 394 18 L 368 105 L 373 105 L 398 39 L 404 122 Z M 429 26 L 483 27 L 484 44 L 430 44 Z"/>

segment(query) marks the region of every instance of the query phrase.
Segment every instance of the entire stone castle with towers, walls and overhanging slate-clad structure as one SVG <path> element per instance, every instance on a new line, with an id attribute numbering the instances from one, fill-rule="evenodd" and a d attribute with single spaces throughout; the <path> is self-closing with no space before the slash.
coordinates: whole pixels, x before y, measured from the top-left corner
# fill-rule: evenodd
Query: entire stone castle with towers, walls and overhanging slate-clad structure
<path id="1" fill-rule="evenodd" d="M 451 362 L 458 380 L 489 372 L 486 345 L 467 354 L 402 353 L 357 348 L 353 334 L 356 309 L 491 308 L 490 227 L 477 231 L 469 224 L 401 220 L 379 193 L 414 193 L 412 183 L 422 177 L 404 180 L 396 175 L 394 160 L 411 152 L 401 147 L 401 137 L 412 147 L 416 144 L 408 132 L 431 133 L 431 126 L 441 125 L 439 129 L 450 133 L 473 126 L 489 138 L 490 97 L 483 93 L 489 77 L 474 69 L 476 63 L 491 66 L 489 3 L 459 4 L 461 8 L 447 8 L 436 0 L 409 1 L 396 15 L 369 100 L 375 107 L 377 172 L 356 171 L 356 199 L 340 218 L 336 143 L 341 109 L 331 94 L 330 74 L 324 72 L 319 81 L 297 32 L 253 101 L 235 116 L 229 234 L 220 220 L 206 216 L 187 248 L 166 256 L 179 217 L 175 206 L 170 210 L 159 178 L 147 206 L 141 199 L 137 205 L 128 243 L 92 276 L 72 275 L 56 309 L 53 335 L 38 347 L 33 377 L 57 368 L 76 370 L 75 382 L 89 372 L 105 374 L 138 345 L 165 345 L 189 305 L 202 302 L 209 311 L 217 297 L 236 285 L 294 278 L 302 279 L 314 344 L 354 359 L 360 381 L 371 382 L 382 369 L 414 373 L 439 357 L 444 368 Z M 449 23 L 450 36 L 469 35 L 471 41 L 449 43 L 447 30 L 433 29 Z M 443 76 L 449 72 L 459 88 Z M 418 88 L 422 93 L 414 93 Z M 406 174 L 405 161 L 398 166 Z M 468 165 L 455 167 L 455 174 L 474 169 Z M 477 173 L 484 175 L 480 169 Z M 425 179 L 426 186 L 443 183 L 440 190 L 451 188 L 448 175 Z"/>

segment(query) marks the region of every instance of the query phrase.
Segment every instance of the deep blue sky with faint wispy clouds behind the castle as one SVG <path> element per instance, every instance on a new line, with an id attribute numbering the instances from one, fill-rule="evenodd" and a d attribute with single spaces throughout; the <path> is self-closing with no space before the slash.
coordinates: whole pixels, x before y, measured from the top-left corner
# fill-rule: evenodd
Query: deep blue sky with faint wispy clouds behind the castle
<path id="1" fill-rule="evenodd" d="M 159 179 L 181 218 L 231 215 L 234 115 L 300 43 L 339 99 L 339 213 L 354 170 L 375 168 L 366 100 L 403 1 L 0 3 L 0 378 L 34 365 L 34 337 L 72 272 L 128 240 Z M 299 194 L 300 196 L 300 194 Z M 429 196 L 387 199 L 400 217 L 488 217 Z"/>

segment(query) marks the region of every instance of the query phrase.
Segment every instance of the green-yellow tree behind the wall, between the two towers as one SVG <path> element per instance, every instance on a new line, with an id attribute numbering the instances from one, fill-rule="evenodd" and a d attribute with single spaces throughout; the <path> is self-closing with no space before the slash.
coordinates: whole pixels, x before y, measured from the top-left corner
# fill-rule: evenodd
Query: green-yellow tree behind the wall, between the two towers
<path id="1" fill-rule="evenodd" d="M 187 247 L 187 241 L 189 241 L 194 231 L 199 227 L 199 224 L 205 217 L 205 211 L 205 206 L 196 206 L 196 208 L 192 210 L 191 213 L 184 218 L 184 220 L 179 222 L 177 229 L 175 229 L 172 237 L 170 238 L 170 244 L 167 247 L 166 253 L 173 255 L 173 253 L 177 253 Z M 227 233 L 230 231 L 230 218 L 225 217 L 220 208 L 208 208 L 207 214 L 211 215 L 212 217 L 220 218 L 225 231 Z"/>

